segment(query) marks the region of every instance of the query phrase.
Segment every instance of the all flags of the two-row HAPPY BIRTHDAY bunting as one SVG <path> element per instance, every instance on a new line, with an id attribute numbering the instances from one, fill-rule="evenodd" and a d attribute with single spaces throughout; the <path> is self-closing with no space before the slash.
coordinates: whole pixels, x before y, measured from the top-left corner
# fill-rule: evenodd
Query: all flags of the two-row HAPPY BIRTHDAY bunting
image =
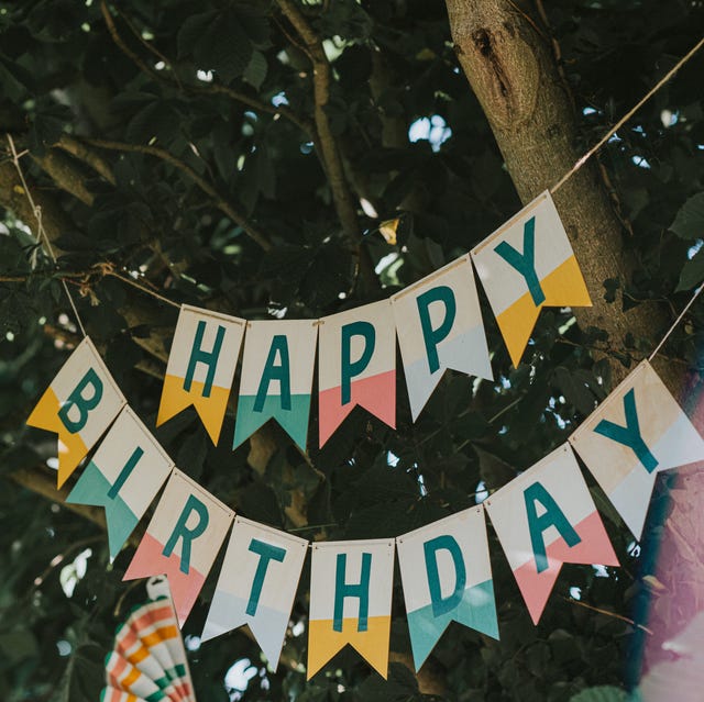
<path id="1" fill-rule="evenodd" d="M 274 419 L 305 449 L 316 349 L 320 445 L 355 405 L 393 427 L 396 337 L 415 421 L 446 369 L 493 379 L 472 264 L 514 364 L 542 307 L 590 304 L 546 192 L 391 300 L 317 321 L 246 322 L 183 305 L 156 424 L 193 404 L 217 444 L 243 346 L 233 447 Z M 58 435 L 59 487 L 99 444 L 67 501 L 105 508 L 111 558 L 166 484 L 124 579 L 166 575 L 182 626 L 232 530 L 202 639 L 246 624 L 276 667 L 307 541 L 235 516 L 178 470 L 89 338 L 28 424 Z M 416 669 L 453 621 L 498 638 L 485 513 L 536 624 L 563 562 L 617 566 L 573 452 L 639 538 L 656 473 L 704 460 L 704 439 L 644 361 L 565 444 L 483 504 L 395 539 L 312 544 L 308 678 L 346 644 L 386 677 L 395 549 Z"/>

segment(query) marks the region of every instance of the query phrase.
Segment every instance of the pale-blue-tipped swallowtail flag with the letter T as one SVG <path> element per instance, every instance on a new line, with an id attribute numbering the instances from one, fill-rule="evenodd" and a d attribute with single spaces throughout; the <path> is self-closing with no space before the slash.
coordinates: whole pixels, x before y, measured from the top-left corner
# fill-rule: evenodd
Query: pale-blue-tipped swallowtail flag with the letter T
<path id="1" fill-rule="evenodd" d="M 201 640 L 248 624 L 276 669 L 307 548 L 302 538 L 235 516 Z"/>

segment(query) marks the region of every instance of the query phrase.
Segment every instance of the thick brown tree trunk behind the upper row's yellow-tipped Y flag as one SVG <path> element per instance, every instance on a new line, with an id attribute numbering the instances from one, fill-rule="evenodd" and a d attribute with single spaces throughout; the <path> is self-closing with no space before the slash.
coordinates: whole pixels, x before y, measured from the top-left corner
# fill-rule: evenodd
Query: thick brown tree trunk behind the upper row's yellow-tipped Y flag
<path id="1" fill-rule="evenodd" d="M 447 7 L 460 63 L 526 204 L 582 156 L 575 149 L 572 101 L 551 45 L 537 22 L 512 0 L 447 0 Z M 614 303 L 604 299 L 604 281 L 627 280 L 634 264 L 624 254 L 622 225 L 594 164 L 566 180 L 554 202 L 593 302 L 592 308 L 574 310 L 580 326 L 605 330 L 612 348 L 624 348 L 628 333 L 654 346 L 667 325 L 663 310 L 648 303 L 624 313 L 620 298 Z M 613 357 L 609 360 L 616 385 L 628 369 Z M 671 389 L 681 387 L 679 372 L 662 364 L 658 370 Z"/>

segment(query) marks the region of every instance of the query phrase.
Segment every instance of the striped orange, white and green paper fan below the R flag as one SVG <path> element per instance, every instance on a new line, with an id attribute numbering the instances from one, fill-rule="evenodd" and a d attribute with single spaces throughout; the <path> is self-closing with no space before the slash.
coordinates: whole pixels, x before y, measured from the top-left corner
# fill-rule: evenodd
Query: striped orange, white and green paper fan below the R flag
<path id="1" fill-rule="evenodd" d="M 180 700 L 195 702 L 188 660 L 174 605 L 167 598 L 132 611 L 116 633 L 106 659 L 103 702 Z"/>

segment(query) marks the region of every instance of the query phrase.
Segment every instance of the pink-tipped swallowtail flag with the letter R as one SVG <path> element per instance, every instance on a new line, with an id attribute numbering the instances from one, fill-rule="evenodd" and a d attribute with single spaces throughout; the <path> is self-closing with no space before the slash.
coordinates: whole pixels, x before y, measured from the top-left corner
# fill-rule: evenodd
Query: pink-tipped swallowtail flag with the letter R
<path id="1" fill-rule="evenodd" d="M 123 580 L 166 575 L 183 626 L 234 512 L 174 468 Z"/>

